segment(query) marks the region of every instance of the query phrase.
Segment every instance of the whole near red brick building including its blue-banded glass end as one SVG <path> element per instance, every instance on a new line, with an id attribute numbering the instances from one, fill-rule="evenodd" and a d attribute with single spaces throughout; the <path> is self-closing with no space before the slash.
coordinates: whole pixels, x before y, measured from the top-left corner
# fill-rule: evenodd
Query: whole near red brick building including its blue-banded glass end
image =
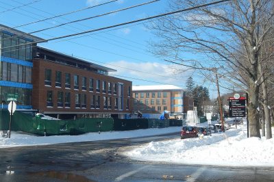
<path id="1" fill-rule="evenodd" d="M 0 28 L 3 109 L 8 107 L 8 94 L 14 93 L 18 109 L 58 118 L 124 118 L 132 112 L 132 81 L 108 76 L 116 70 L 36 44 L 21 46 L 42 38 L 4 25 Z"/>

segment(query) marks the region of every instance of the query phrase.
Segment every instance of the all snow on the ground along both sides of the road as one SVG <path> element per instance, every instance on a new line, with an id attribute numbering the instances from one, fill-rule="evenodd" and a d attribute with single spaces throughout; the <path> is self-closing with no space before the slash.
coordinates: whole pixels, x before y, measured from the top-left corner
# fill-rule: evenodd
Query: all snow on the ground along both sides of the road
<path id="1" fill-rule="evenodd" d="M 232 122 L 227 120 L 227 122 Z M 214 123 L 212 123 L 214 124 Z M 207 123 L 201 124 L 208 125 Z M 178 132 L 178 138 L 163 142 L 150 142 L 124 154 L 143 161 L 164 161 L 179 164 L 218 166 L 274 166 L 274 138 L 247 138 L 247 125 L 238 125 L 225 133 L 213 133 L 203 138 L 181 140 L 181 127 L 163 129 L 139 129 L 134 131 L 108 131 L 84 135 L 35 136 L 20 132 L 11 133 L 11 138 L 0 137 L 0 148 L 66 142 L 86 142 L 136 138 Z M 274 133 L 274 130 L 272 131 Z"/>

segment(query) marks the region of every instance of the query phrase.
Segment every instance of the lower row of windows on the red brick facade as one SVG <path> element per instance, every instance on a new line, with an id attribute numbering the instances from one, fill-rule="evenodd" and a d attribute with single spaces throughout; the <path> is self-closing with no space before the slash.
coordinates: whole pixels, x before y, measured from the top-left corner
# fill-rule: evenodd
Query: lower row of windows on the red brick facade
<path id="1" fill-rule="evenodd" d="M 53 91 L 47 91 L 47 107 L 65 107 L 65 108 L 82 108 L 82 109 L 123 109 L 122 97 L 112 98 L 110 96 L 90 96 L 90 105 L 87 105 L 87 95 L 86 94 L 75 94 L 75 105 L 71 105 L 71 92 L 57 92 L 57 102 L 53 101 Z M 102 101 L 101 101 L 102 99 Z M 101 105 L 103 103 L 103 105 Z M 127 99 L 125 109 L 129 109 L 129 99 Z"/>

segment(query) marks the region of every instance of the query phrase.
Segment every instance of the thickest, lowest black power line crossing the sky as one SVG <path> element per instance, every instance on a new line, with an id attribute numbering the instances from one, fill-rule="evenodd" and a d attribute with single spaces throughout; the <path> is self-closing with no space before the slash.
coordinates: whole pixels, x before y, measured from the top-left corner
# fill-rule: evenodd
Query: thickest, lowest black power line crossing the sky
<path id="1" fill-rule="evenodd" d="M 110 25 L 110 26 L 101 27 L 101 28 L 98 28 L 98 29 L 90 29 L 88 31 L 82 31 L 82 32 L 79 32 L 77 34 L 69 34 L 69 35 L 66 35 L 66 36 L 60 36 L 60 37 L 49 38 L 49 39 L 46 39 L 46 40 L 40 40 L 40 41 L 36 41 L 36 42 L 29 42 L 29 43 L 25 43 L 25 44 L 19 44 L 17 46 L 22 46 L 22 45 L 27 45 L 27 44 L 34 44 L 34 43 L 41 43 L 41 42 L 47 42 L 47 41 L 51 41 L 51 40 L 58 40 L 58 39 L 62 39 L 62 38 L 68 38 L 68 37 L 71 37 L 71 36 L 79 36 L 79 35 L 82 35 L 82 34 L 88 34 L 90 32 L 101 31 L 103 29 L 111 29 L 111 28 L 114 28 L 114 27 L 121 27 L 123 25 L 132 24 L 132 23 L 138 23 L 138 22 L 141 22 L 141 21 L 147 21 L 149 19 L 159 18 L 161 16 L 167 16 L 167 15 L 170 15 L 170 14 L 175 14 L 175 13 L 179 13 L 179 12 L 185 12 L 185 11 L 194 10 L 194 9 L 197 9 L 197 8 L 203 8 L 203 7 L 206 7 L 208 5 L 213 5 L 213 4 L 216 4 L 216 3 L 223 3 L 225 1 L 231 1 L 231 0 L 214 1 L 212 3 L 206 3 L 206 4 L 202 4 L 202 5 L 197 5 L 197 6 L 191 7 L 191 8 L 186 8 L 186 9 L 182 9 L 182 10 L 176 10 L 176 11 L 173 11 L 173 12 L 167 12 L 167 13 L 158 14 L 158 15 L 155 15 L 155 16 L 149 16 L 147 18 L 140 18 L 140 19 L 137 19 L 135 21 L 128 21 L 128 22 L 125 22 L 125 23 L 119 23 L 119 24 L 116 24 L 116 25 Z M 4 48 L 12 48 L 12 47 L 16 47 L 16 46 L 4 47 Z"/>

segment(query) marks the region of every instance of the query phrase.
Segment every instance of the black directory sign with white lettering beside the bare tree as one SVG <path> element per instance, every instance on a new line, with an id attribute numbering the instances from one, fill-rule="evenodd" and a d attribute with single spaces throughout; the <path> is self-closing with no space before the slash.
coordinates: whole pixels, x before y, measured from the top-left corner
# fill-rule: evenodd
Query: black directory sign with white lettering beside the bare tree
<path id="1" fill-rule="evenodd" d="M 245 117 L 245 97 L 229 97 L 229 117 Z"/>

